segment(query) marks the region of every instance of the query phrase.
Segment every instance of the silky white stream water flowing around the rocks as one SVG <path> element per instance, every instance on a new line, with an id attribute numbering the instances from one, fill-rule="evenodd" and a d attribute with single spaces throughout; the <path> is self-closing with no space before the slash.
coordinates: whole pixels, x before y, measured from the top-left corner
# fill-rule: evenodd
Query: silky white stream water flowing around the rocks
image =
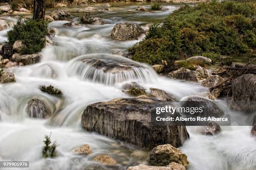
<path id="1" fill-rule="evenodd" d="M 101 5 L 95 6 L 103 8 Z M 52 38 L 54 45 L 41 51 L 41 62 L 8 69 L 15 74 L 17 82 L 0 84 L 0 161 L 29 161 L 30 170 L 126 170 L 139 163 L 149 164 L 148 150 L 83 130 L 81 115 L 84 108 L 95 102 L 130 97 L 120 90 L 120 86 L 132 81 L 138 82 L 147 90 L 149 87 L 165 90 L 177 99 L 206 91 L 200 83 L 160 77 L 149 65 L 123 57 L 127 54 L 127 48 L 143 37 L 133 41 L 116 41 L 110 37 L 116 23 L 128 21 L 146 28 L 151 21 L 163 20 L 181 5 L 163 4 L 170 10 L 161 12 L 140 12 L 136 7 L 142 4 L 135 2 L 110 5 L 109 11 L 91 13 L 92 16 L 104 18 L 108 23 L 106 25 L 65 28 L 62 25 L 68 21 L 50 23 L 49 27 L 56 28 L 57 32 Z M 143 4 L 144 7 L 150 5 Z M 64 9 L 72 13 L 71 20 L 79 20 L 79 16 L 83 14 L 77 13 L 77 10 L 83 7 Z M 55 9 L 48 9 L 46 13 L 50 14 L 53 10 Z M 31 16 L 31 13 L 23 16 Z M 0 19 L 15 22 L 16 17 L 15 14 L 2 15 Z M 0 42 L 7 40 L 6 36 L 6 30 L 1 31 Z M 141 67 L 116 76 L 93 70 L 79 61 L 90 57 L 133 62 Z M 40 85 L 50 84 L 61 89 L 63 97 L 54 97 L 39 89 Z M 51 118 L 40 120 L 28 117 L 26 104 L 33 96 L 43 97 L 51 109 L 55 110 Z M 253 157 L 249 156 L 244 160 L 237 158 L 245 150 L 256 150 L 255 138 L 250 135 L 251 127 L 222 127 L 223 132 L 216 136 L 202 135 L 200 127 L 187 129 L 190 139 L 180 149 L 188 156 L 188 170 L 255 170 L 255 163 L 246 166 L 246 162 Z M 58 143 L 58 157 L 45 159 L 41 156 L 43 140 L 50 133 L 51 139 Z M 90 145 L 92 154 L 84 156 L 72 153 L 72 150 L 84 144 Z M 95 163 L 93 158 L 98 154 L 110 155 L 118 162 L 118 166 L 105 167 Z"/>

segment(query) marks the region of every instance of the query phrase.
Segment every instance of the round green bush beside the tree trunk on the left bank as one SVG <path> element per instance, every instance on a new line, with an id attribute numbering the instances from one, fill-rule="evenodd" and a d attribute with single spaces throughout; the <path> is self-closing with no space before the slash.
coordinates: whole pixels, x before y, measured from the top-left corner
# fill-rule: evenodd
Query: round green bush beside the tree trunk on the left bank
<path id="1" fill-rule="evenodd" d="M 8 43 L 14 44 L 16 40 L 21 40 L 25 47 L 21 49 L 23 54 L 40 52 L 45 47 L 46 29 L 48 21 L 18 18 L 12 30 L 7 32 Z"/>

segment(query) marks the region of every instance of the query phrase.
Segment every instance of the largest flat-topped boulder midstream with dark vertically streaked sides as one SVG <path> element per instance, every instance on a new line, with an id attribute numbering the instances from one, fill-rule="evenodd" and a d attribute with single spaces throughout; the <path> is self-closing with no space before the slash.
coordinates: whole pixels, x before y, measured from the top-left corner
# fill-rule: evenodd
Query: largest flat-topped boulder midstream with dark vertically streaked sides
<path id="1" fill-rule="evenodd" d="M 97 102 L 84 110 L 82 127 L 139 147 L 154 148 L 166 143 L 181 146 L 189 138 L 184 122 L 179 122 L 179 125 L 156 125 L 151 122 L 151 112 L 160 104 L 171 105 L 170 102 L 150 98 L 118 98 Z"/>

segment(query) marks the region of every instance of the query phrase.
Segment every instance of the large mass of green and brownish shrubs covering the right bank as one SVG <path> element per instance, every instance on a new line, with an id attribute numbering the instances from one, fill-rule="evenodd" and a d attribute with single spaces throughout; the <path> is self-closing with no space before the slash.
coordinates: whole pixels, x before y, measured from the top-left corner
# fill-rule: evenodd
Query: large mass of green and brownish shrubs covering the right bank
<path id="1" fill-rule="evenodd" d="M 174 11 L 162 26 L 151 24 L 141 42 L 128 50 L 132 59 L 160 64 L 193 55 L 218 56 L 256 47 L 256 2 L 207 2 Z"/>

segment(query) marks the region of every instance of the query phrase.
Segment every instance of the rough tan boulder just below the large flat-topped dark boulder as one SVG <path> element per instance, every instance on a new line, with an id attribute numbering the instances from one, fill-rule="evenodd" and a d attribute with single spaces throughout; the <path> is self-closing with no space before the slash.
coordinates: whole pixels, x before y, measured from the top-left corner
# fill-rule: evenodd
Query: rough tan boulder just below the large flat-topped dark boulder
<path id="1" fill-rule="evenodd" d="M 149 159 L 154 163 L 160 163 L 162 165 L 169 165 L 169 163 L 172 162 L 184 166 L 189 164 L 187 161 L 187 155 L 182 153 L 180 149 L 175 148 L 170 144 L 156 146 L 151 151 Z"/>

